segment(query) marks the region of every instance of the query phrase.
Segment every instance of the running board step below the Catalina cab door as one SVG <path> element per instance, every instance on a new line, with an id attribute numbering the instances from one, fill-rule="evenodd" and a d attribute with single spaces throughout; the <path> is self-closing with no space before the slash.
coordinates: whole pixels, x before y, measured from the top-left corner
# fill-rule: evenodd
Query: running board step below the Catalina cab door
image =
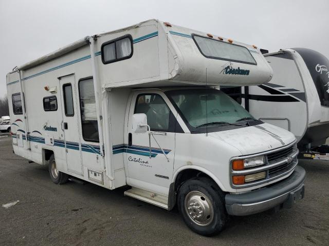
<path id="1" fill-rule="evenodd" d="M 124 192 L 125 196 L 130 196 L 138 200 L 151 203 L 162 209 L 168 210 L 168 196 L 161 195 L 155 192 L 143 190 L 140 188 L 133 187 L 130 190 Z"/>

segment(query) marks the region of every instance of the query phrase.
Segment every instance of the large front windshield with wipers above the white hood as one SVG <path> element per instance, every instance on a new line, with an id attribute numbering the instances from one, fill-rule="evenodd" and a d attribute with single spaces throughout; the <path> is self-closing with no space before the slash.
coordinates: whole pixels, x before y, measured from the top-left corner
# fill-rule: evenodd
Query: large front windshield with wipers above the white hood
<path id="1" fill-rule="evenodd" d="M 239 128 L 247 126 L 247 120 L 255 120 L 240 104 L 220 90 L 175 90 L 168 91 L 167 95 L 192 130 L 205 127 L 212 128 L 211 131 L 218 130 L 218 127 Z"/>

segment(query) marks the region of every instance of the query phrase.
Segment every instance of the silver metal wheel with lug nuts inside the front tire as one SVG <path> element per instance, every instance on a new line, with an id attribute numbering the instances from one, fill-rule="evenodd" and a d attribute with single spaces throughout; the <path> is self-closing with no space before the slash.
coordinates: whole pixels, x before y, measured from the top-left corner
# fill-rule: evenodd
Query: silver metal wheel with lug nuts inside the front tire
<path id="1" fill-rule="evenodd" d="M 199 226 L 207 226 L 213 220 L 214 212 L 209 198 L 199 191 L 191 191 L 185 197 L 185 211 Z"/>

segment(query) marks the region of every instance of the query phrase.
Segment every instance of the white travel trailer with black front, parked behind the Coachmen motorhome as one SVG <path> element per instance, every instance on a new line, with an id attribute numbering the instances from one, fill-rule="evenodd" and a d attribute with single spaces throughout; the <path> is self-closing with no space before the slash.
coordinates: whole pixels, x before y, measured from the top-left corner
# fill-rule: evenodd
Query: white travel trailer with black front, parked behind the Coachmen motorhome
<path id="1" fill-rule="evenodd" d="M 273 69 L 270 83 L 222 90 L 235 99 L 243 97 L 237 100 L 254 117 L 293 132 L 301 158 L 320 158 L 320 153 L 329 152 L 325 146 L 329 137 L 329 60 L 305 48 L 264 56 Z"/>

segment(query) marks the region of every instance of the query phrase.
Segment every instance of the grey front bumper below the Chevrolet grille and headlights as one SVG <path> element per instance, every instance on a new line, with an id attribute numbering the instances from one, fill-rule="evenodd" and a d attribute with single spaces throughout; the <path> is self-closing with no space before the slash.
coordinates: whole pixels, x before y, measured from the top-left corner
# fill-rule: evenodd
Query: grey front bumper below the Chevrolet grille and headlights
<path id="1" fill-rule="evenodd" d="M 275 208 L 291 208 L 304 197 L 305 170 L 299 166 L 286 179 L 255 191 L 225 196 L 226 210 L 230 215 L 249 215 Z"/>

